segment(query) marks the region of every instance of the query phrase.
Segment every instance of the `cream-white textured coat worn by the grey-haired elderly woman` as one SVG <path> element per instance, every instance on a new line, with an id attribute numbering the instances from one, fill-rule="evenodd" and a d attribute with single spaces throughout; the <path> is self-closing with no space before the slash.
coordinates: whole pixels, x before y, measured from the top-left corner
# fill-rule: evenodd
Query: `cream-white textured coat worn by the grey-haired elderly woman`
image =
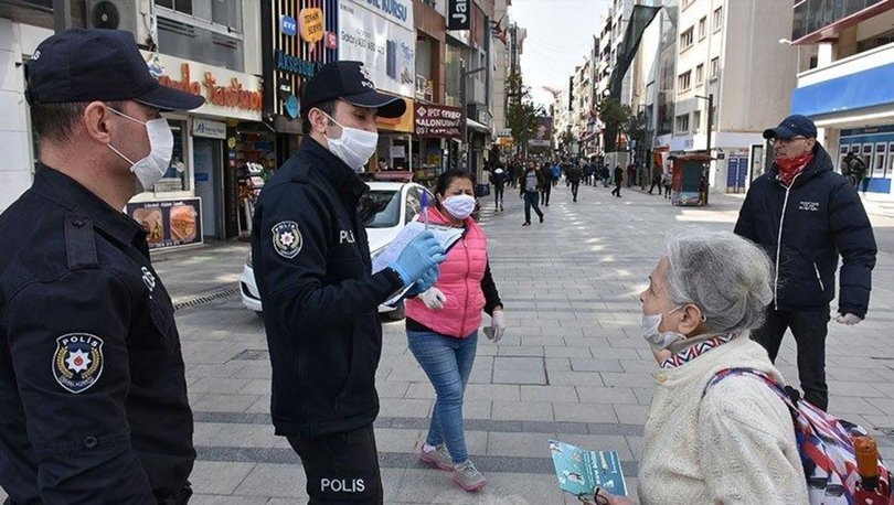
<path id="1" fill-rule="evenodd" d="M 730 367 L 783 380 L 747 334 L 653 374 L 639 464 L 642 505 L 808 503 L 791 416 L 766 383 L 727 377 L 702 398 L 715 373 Z"/>

